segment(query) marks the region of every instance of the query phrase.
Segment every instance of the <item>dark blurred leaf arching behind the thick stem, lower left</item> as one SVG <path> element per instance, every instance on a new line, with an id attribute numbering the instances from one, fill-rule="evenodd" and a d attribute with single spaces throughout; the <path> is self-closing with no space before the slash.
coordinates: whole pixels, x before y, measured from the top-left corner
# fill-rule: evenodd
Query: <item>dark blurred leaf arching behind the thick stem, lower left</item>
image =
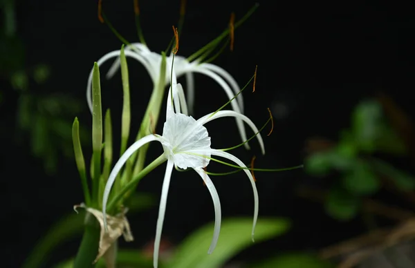
<path id="1" fill-rule="evenodd" d="M 154 199 L 152 195 L 147 193 L 137 193 L 136 195 L 133 195 L 131 200 L 132 202 L 129 206 L 129 213 L 142 211 L 151 207 Z M 84 230 L 84 215 L 84 211 L 80 210 L 79 214 L 73 212 L 62 218 L 62 220 L 56 222 L 55 225 L 48 230 L 48 233 L 42 236 L 39 240 L 33 251 L 30 253 L 30 256 L 26 259 L 23 267 L 42 267 L 42 264 L 44 265 L 48 256 L 50 256 L 50 252 L 52 252 L 57 246 L 77 235 L 81 236 L 82 231 Z"/>

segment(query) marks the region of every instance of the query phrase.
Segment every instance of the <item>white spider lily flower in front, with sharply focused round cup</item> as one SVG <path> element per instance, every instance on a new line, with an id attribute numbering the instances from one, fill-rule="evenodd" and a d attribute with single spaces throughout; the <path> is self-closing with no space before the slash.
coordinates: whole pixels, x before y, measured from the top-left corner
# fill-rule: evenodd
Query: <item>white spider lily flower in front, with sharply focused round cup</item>
<path id="1" fill-rule="evenodd" d="M 156 238 L 154 241 L 154 267 L 158 266 L 158 251 L 160 247 L 160 238 L 163 229 L 163 222 L 165 217 L 165 210 L 167 205 L 167 195 L 169 191 L 170 178 L 172 177 L 173 167 L 179 169 L 194 169 L 198 173 L 201 179 L 205 182 L 205 185 L 208 187 L 208 191 L 212 196 L 214 204 L 214 213 L 215 213 L 215 222 L 214 222 L 214 232 L 212 242 L 210 244 L 208 253 L 212 253 L 216 247 L 216 243 L 219 238 L 219 231 L 221 227 L 221 203 L 219 201 L 219 195 L 216 192 L 212 180 L 210 180 L 208 174 L 205 173 L 203 168 L 208 166 L 211 156 L 219 156 L 226 158 L 238 166 L 241 167 L 248 176 L 254 193 L 254 218 L 252 224 L 252 241 L 255 232 L 255 225 L 258 218 L 258 208 L 259 208 L 259 199 L 257 187 L 255 186 L 255 180 L 250 173 L 249 169 L 241 160 L 239 160 L 234 155 L 227 153 L 225 151 L 212 149 L 208 129 L 205 128 L 205 124 L 220 117 L 234 117 L 240 119 L 250 126 L 254 133 L 258 133 L 258 129 L 255 124 L 245 115 L 237 113 L 235 111 L 216 111 L 210 113 L 196 120 L 192 116 L 181 113 L 183 107 L 186 107 L 186 104 L 181 102 L 184 99 L 183 89 L 181 89 L 181 84 L 173 84 L 173 88 L 176 88 L 176 91 L 182 91 L 182 93 L 177 93 L 175 96 L 182 96 L 179 98 L 179 102 L 174 102 L 176 111 L 174 111 L 172 105 L 172 96 L 171 88 L 169 89 L 169 94 L 167 98 L 167 112 L 166 112 L 166 121 L 163 126 L 163 135 L 147 135 L 142 137 L 140 140 L 134 142 L 127 151 L 120 157 L 120 160 L 116 163 L 113 170 L 111 171 L 107 184 L 104 189 L 104 196 L 102 200 L 102 213 L 105 213 L 107 209 L 107 202 L 109 198 L 109 193 L 111 187 L 113 186 L 114 181 L 117 178 L 118 173 L 122 169 L 122 166 L 127 162 L 129 157 L 133 155 L 141 146 L 149 142 L 160 142 L 163 146 L 163 157 L 167 160 L 167 167 L 165 171 L 165 177 L 163 180 L 163 186 L 161 191 L 160 198 L 160 207 L 158 210 L 158 220 L 156 225 Z M 176 105 L 180 104 L 180 105 Z M 265 153 L 264 142 L 260 134 L 257 135 L 257 139 L 261 146 L 262 153 Z"/>

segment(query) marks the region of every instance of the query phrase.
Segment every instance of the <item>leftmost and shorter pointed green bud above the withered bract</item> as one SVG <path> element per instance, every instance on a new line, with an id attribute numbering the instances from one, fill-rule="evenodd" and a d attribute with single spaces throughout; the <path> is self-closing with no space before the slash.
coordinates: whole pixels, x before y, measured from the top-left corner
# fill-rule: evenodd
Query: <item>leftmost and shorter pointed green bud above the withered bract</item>
<path id="1" fill-rule="evenodd" d="M 73 151 L 75 153 L 75 162 L 77 170 L 80 173 L 82 190 L 84 191 L 84 200 L 86 206 L 91 204 L 91 195 L 89 193 L 88 182 L 86 181 L 86 168 L 84 154 L 82 153 L 82 146 L 80 141 L 80 122 L 78 122 L 77 117 L 73 120 L 72 125 L 72 142 L 73 142 Z"/>

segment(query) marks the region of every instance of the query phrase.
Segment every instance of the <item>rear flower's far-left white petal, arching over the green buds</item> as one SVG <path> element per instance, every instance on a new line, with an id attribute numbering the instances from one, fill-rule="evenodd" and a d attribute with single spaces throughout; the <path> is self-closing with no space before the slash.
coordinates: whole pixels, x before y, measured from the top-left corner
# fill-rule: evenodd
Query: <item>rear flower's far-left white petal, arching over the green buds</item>
<path id="1" fill-rule="evenodd" d="M 120 57 L 120 52 L 121 52 L 121 50 L 115 50 L 115 51 L 111 51 L 111 52 L 107 53 L 106 55 L 102 56 L 97 61 L 98 66 L 103 64 L 108 59 L 111 59 L 113 57 Z M 146 61 L 145 57 L 142 57 L 142 55 L 140 55 L 136 52 L 131 52 L 129 50 L 124 50 L 124 54 L 125 54 L 126 57 L 132 57 L 133 59 L 136 59 L 137 61 L 140 61 L 141 64 L 149 72 L 149 75 L 150 75 L 150 77 L 151 77 L 151 79 L 153 80 L 153 83 L 154 83 L 155 77 L 157 77 L 156 73 L 155 73 L 154 69 L 152 69 L 150 67 L 150 65 Z M 89 73 L 88 84 L 86 84 L 86 102 L 88 102 L 89 111 L 91 111 L 91 113 L 92 113 L 92 73 L 93 73 L 93 68 L 91 69 L 91 73 Z"/>

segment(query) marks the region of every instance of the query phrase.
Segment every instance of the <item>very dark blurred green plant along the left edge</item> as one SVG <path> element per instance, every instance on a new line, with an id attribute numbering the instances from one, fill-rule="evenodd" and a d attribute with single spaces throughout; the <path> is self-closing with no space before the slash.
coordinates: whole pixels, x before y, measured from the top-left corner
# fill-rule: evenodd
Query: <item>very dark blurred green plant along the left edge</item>
<path id="1" fill-rule="evenodd" d="M 57 170 L 61 153 L 73 158 L 69 118 L 80 113 L 83 107 L 79 100 L 68 95 L 30 90 L 32 81 L 42 86 L 46 84 L 50 68 L 46 64 L 26 66 L 25 47 L 16 30 L 15 1 L 1 1 L 0 12 L 4 18 L 0 30 L 0 77 L 7 79 L 19 94 L 16 115 L 18 142 L 28 140 L 31 153 L 42 159 L 46 173 L 51 175 Z M 3 95 L 0 96 L 0 104 L 5 101 Z M 84 138 L 86 133 L 82 131 L 81 136 Z"/>

